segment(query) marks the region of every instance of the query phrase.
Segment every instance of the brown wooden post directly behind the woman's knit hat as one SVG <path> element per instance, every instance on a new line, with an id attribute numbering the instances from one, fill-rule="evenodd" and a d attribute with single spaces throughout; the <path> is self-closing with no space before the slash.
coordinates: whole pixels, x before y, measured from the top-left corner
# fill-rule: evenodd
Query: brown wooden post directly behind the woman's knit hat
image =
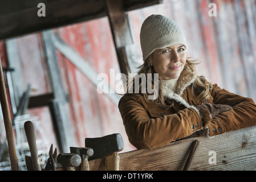
<path id="1" fill-rule="evenodd" d="M 138 57 L 140 58 L 139 50 L 132 48 L 136 47 L 136 44 L 133 40 L 129 17 L 123 7 L 123 1 L 106 0 L 106 3 L 120 71 L 127 75 L 130 72 L 135 72 L 132 71 L 132 68 L 137 66 L 137 61 L 135 60 Z M 132 52 L 129 51 L 131 49 L 133 50 Z"/>

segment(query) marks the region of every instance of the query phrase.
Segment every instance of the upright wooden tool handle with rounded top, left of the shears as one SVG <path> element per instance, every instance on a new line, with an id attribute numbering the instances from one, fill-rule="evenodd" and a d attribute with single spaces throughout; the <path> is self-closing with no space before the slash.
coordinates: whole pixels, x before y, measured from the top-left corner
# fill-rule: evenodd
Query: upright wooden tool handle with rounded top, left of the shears
<path id="1" fill-rule="evenodd" d="M 35 130 L 33 123 L 31 121 L 25 122 L 24 128 L 27 136 L 27 142 L 29 143 L 29 149 L 34 171 L 41 171 L 40 166 L 38 164 L 38 153 L 36 148 Z"/>

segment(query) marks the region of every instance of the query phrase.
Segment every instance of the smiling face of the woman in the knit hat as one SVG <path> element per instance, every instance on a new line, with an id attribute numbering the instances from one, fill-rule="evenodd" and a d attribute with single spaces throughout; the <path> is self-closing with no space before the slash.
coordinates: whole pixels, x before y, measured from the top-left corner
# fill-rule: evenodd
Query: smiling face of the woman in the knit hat
<path id="1" fill-rule="evenodd" d="M 161 80 L 171 80 L 180 77 L 186 63 L 186 49 L 181 44 L 157 49 L 153 52 L 151 65 Z"/>

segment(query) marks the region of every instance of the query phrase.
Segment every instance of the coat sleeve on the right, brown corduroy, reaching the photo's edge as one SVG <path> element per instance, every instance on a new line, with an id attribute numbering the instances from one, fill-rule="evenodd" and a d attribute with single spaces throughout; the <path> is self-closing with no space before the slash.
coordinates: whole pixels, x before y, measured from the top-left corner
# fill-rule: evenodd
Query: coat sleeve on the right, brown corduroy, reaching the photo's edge
<path id="1" fill-rule="evenodd" d="M 212 96 L 214 104 L 230 105 L 232 109 L 218 114 L 208 123 L 210 137 L 256 125 L 256 105 L 251 98 L 227 92 L 217 84 L 213 86 Z"/>

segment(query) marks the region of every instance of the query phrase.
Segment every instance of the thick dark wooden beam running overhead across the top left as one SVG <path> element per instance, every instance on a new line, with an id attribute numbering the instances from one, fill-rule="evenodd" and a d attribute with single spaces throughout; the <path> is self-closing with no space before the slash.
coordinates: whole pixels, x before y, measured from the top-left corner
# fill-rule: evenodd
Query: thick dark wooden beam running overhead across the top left
<path id="1" fill-rule="evenodd" d="M 37 15 L 38 3 L 44 3 L 46 6 L 46 16 Z M 125 0 L 124 10 L 134 10 L 157 3 L 161 1 Z M 0 40 L 103 16 L 107 16 L 105 0 L 0 1 Z"/>

